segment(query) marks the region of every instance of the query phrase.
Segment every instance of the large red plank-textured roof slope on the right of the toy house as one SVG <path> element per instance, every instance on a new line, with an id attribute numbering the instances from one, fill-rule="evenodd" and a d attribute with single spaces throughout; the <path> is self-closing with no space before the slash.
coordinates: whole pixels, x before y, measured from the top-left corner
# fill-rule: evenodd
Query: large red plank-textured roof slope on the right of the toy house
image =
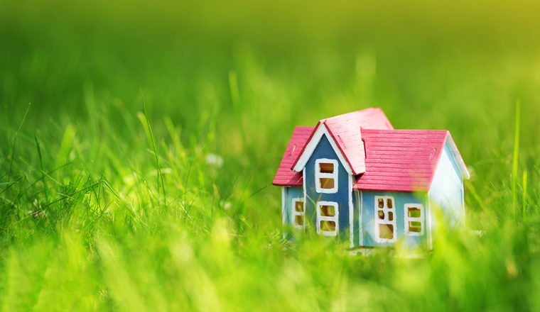
<path id="1" fill-rule="evenodd" d="M 441 158 L 447 130 L 362 130 L 366 172 L 360 191 L 428 191 Z"/>

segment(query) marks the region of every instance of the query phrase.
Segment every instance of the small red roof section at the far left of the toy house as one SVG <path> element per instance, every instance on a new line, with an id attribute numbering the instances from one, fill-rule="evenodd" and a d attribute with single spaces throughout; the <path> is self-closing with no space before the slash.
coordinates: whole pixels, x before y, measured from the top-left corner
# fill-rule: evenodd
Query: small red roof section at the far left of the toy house
<path id="1" fill-rule="evenodd" d="M 272 182 L 274 185 L 302 186 L 302 172 L 293 172 L 291 165 L 293 165 L 296 157 L 303 150 L 313 130 L 315 130 L 314 127 L 294 128 L 293 136 L 288 141 L 287 149 L 285 150 L 281 164 L 279 164 L 274 182 Z"/>

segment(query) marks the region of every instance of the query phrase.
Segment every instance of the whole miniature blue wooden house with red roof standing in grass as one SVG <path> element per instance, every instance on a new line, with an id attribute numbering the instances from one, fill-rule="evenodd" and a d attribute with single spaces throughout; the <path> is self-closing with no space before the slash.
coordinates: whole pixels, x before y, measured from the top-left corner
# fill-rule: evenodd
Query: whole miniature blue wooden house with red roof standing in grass
<path id="1" fill-rule="evenodd" d="M 313 226 L 350 247 L 433 246 L 436 211 L 465 224 L 470 179 L 447 130 L 394 130 L 380 108 L 296 127 L 273 184 L 284 225 Z"/>

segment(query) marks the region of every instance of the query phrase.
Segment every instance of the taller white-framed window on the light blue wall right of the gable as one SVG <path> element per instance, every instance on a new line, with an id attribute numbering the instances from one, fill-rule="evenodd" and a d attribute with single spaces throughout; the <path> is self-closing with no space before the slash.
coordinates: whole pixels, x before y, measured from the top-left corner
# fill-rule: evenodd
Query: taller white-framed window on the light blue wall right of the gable
<path id="1" fill-rule="evenodd" d="M 392 196 L 375 196 L 375 237 L 377 243 L 394 243 L 396 205 Z"/>

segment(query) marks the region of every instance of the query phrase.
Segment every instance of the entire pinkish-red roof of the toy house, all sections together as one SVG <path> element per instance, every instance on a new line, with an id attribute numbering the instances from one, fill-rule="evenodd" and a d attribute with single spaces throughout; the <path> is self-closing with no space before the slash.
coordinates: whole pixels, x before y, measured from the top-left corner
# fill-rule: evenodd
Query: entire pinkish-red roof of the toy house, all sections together
<path id="1" fill-rule="evenodd" d="M 447 140 L 458 167 L 468 177 L 467 168 L 447 130 L 394 130 L 380 108 L 323 119 L 318 127 L 323 123 L 345 160 L 355 168 L 354 172 L 365 166 L 361 174 L 355 174 L 353 189 L 428 191 Z M 303 186 L 302 172 L 293 172 L 291 168 L 318 127 L 295 128 L 274 185 Z"/>

